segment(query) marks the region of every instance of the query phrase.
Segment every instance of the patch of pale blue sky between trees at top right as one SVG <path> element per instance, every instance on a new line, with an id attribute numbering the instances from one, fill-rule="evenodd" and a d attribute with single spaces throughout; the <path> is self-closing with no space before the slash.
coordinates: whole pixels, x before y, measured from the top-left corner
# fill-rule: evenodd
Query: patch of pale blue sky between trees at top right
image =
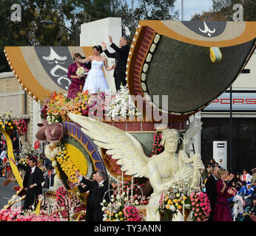
<path id="1" fill-rule="evenodd" d="M 181 20 L 181 0 L 176 0 L 175 8 L 179 10 Z M 190 21 L 194 13 L 202 13 L 212 8 L 212 0 L 183 0 L 184 21 Z"/>

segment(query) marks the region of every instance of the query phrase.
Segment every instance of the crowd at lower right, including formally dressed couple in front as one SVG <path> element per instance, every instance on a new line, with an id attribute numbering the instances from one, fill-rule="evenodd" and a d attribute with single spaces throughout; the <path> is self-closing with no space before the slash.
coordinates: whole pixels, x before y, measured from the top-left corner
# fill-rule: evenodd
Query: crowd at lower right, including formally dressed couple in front
<path id="1" fill-rule="evenodd" d="M 255 221 L 256 168 L 249 173 L 229 173 L 214 159 L 207 163 L 203 192 L 209 197 L 209 221 Z"/>

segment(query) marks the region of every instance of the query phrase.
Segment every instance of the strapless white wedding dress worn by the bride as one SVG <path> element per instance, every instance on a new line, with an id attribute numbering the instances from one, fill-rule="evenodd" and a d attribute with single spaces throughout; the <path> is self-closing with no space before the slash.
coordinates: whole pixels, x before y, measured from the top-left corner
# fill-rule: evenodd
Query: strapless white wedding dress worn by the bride
<path id="1" fill-rule="evenodd" d="M 98 91 L 108 91 L 107 81 L 102 70 L 103 66 L 104 62 L 102 60 L 92 60 L 92 68 L 85 80 L 83 92 L 88 90 L 90 94 L 95 94 Z"/>

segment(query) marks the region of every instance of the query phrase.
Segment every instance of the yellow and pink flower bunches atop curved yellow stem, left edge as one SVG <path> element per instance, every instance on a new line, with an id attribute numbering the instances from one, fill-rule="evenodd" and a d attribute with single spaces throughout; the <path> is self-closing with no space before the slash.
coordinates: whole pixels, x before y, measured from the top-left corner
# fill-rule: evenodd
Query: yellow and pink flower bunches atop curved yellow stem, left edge
<path id="1" fill-rule="evenodd" d="M 12 111 L 0 114 L 0 128 L 4 131 L 17 131 L 18 135 L 27 133 L 27 122 L 23 118 L 12 117 Z"/>

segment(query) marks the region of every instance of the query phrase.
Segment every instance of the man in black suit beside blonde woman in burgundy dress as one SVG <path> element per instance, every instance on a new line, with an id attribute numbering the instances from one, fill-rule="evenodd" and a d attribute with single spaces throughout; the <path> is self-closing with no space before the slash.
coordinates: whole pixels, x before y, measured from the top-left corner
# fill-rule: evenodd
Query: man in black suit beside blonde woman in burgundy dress
<path id="1" fill-rule="evenodd" d="M 213 214 L 215 212 L 215 204 L 217 201 L 217 192 L 215 189 L 216 181 L 218 181 L 218 171 L 220 170 L 219 167 L 214 167 L 212 170 L 211 176 L 206 181 L 206 194 L 209 198 L 211 204 L 211 212 L 209 215 L 209 221 L 212 221 Z"/>

